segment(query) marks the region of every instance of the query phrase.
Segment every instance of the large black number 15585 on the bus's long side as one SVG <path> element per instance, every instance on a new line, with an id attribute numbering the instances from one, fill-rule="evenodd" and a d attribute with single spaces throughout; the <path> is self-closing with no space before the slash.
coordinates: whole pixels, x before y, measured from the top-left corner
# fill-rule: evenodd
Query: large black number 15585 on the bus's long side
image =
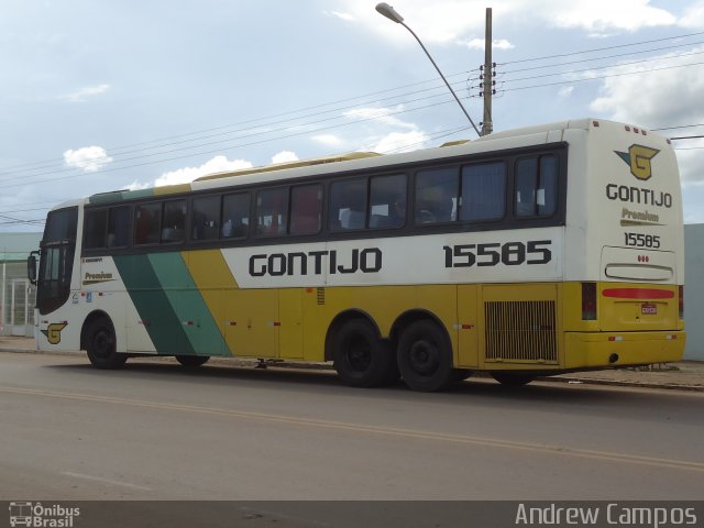
<path id="1" fill-rule="evenodd" d="M 446 245 L 444 267 L 506 266 L 547 264 L 552 260 L 551 240 L 524 242 L 493 242 L 485 244 Z"/>

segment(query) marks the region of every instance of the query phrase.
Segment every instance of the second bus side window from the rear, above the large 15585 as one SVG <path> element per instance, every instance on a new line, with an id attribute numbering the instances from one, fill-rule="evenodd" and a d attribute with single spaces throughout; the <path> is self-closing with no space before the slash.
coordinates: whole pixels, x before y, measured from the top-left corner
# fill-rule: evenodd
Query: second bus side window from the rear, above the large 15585
<path id="1" fill-rule="evenodd" d="M 506 210 L 506 165 L 477 163 L 462 167 L 460 220 L 484 221 L 504 218 Z"/>

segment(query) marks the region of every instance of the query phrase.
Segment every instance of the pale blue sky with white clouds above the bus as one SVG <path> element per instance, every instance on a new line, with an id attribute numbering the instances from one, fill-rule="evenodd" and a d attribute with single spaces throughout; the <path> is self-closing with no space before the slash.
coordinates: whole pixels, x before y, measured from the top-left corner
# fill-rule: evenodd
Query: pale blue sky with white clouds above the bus
<path id="1" fill-rule="evenodd" d="M 394 0 L 494 129 L 616 119 L 704 135 L 704 0 Z M 413 36 L 365 0 L 2 0 L 0 231 L 64 199 L 213 170 L 473 139 Z M 686 127 L 674 129 L 674 127 Z M 675 142 L 704 222 L 704 140 Z"/>

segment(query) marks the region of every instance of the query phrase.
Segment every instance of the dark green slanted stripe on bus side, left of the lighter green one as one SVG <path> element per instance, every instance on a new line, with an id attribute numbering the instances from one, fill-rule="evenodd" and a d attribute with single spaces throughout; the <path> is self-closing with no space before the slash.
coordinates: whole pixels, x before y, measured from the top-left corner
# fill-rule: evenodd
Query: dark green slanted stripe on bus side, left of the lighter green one
<path id="1" fill-rule="evenodd" d="M 116 255 L 113 258 L 157 353 L 195 353 L 148 255 Z"/>

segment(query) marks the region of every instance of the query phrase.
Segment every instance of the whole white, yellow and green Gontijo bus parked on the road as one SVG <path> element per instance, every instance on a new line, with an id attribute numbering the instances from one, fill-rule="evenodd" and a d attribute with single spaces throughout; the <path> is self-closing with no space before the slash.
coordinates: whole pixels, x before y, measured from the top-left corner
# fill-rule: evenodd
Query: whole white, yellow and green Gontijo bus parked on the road
<path id="1" fill-rule="evenodd" d="M 684 349 L 670 141 L 595 119 L 116 191 L 47 217 L 37 348 L 333 362 L 438 391 Z"/>

